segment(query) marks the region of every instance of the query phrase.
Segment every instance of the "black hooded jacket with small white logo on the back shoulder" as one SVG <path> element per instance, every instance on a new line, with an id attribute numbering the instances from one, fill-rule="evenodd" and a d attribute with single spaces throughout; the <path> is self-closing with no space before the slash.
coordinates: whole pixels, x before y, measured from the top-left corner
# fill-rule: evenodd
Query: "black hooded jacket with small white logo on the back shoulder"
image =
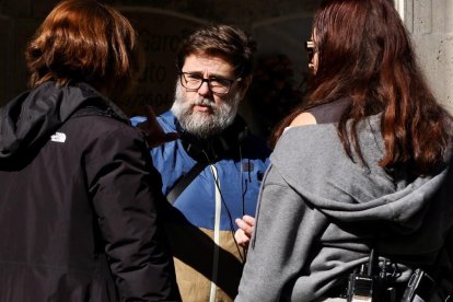
<path id="1" fill-rule="evenodd" d="M 0 184 L 1 302 L 175 299 L 160 176 L 90 85 L 47 82 L 0 109 Z"/>

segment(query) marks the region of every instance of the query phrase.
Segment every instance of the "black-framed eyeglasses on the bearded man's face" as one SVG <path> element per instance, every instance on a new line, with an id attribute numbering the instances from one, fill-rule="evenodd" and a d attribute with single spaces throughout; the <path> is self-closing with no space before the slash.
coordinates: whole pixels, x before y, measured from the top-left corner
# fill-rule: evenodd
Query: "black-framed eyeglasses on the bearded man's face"
<path id="1" fill-rule="evenodd" d="M 242 81 L 242 78 L 235 80 L 223 78 L 205 79 L 197 73 L 179 72 L 181 84 L 188 91 L 197 91 L 202 83 L 207 82 L 209 90 L 214 94 L 226 94 L 230 92 L 234 82 Z"/>

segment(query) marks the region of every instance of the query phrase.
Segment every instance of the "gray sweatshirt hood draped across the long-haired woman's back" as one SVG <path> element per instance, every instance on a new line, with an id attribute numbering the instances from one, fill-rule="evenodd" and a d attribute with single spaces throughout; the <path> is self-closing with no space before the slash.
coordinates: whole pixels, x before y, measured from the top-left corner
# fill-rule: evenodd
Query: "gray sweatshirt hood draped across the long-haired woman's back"
<path id="1" fill-rule="evenodd" d="M 453 214 L 450 198 L 431 202 L 453 193 L 446 167 L 437 175 L 415 179 L 404 173 L 391 176 L 379 166 L 384 155 L 380 123 L 376 115 L 359 126 L 368 167 L 346 155 L 334 124 L 288 129 L 271 154 L 271 164 L 304 200 L 340 223 L 384 222 L 393 231 L 407 234 L 425 223 L 425 216 L 439 210 L 442 214 L 437 226 L 449 228 Z"/>

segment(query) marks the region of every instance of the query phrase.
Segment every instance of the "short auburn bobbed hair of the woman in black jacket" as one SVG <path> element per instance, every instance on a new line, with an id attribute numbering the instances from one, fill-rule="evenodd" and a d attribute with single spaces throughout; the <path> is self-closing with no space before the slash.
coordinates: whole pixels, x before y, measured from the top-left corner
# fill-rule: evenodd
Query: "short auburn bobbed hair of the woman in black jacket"
<path id="1" fill-rule="evenodd" d="M 129 89 L 142 66 L 137 34 L 117 10 L 66 0 L 49 13 L 25 51 L 30 85 L 84 81 L 108 94 Z"/>

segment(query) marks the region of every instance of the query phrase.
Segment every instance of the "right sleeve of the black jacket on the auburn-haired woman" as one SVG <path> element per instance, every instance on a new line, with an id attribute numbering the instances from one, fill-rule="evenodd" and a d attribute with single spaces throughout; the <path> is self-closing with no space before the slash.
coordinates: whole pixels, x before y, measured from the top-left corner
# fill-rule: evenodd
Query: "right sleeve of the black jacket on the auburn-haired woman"
<path id="1" fill-rule="evenodd" d="M 142 137 L 125 125 L 86 152 L 88 185 L 121 301 L 176 301 L 158 214 L 161 179 Z"/>

